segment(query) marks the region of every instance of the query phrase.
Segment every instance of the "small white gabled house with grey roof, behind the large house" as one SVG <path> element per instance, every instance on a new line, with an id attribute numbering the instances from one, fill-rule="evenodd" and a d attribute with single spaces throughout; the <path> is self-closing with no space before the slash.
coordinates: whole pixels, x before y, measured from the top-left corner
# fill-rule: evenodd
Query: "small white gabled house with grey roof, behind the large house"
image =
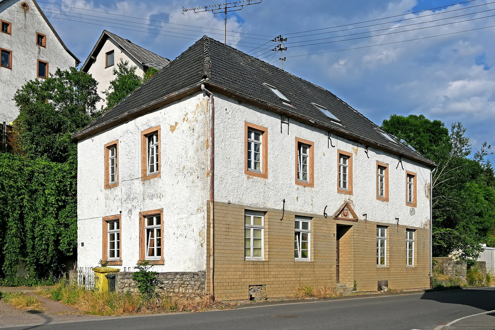
<path id="1" fill-rule="evenodd" d="M 129 39 L 103 30 L 95 47 L 81 66 L 81 71 L 90 73 L 98 82 L 98 92 L 103 98 L 96 105 L 98 109 L 105 104 L 105 96 L 102 92 L 106 91 L 110 87 L 110 81 L 115 79 L 114 65 L 120 60 L 128 61 L 130 65 L 136 66 L 136 74 L 140 77 L 143 77 L 150 67 L 160 70 L 170 63 L 168 58 L 140 47 Z"/>

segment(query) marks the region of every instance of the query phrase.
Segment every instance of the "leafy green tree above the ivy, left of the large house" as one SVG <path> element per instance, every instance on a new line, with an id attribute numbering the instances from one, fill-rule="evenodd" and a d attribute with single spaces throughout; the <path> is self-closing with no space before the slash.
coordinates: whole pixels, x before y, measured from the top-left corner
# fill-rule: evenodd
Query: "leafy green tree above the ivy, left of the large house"
<path id="1" fill-rule="evenodd" d="M 14 120 L 18 141 L 30 158 L 64 162 L 74 152 L 73 132 L 88 125 L 100 100 L 98 83 L 72 67 L 57 69 L 46 80 L 30 80 L 17 90 L 19 116 Z"/>

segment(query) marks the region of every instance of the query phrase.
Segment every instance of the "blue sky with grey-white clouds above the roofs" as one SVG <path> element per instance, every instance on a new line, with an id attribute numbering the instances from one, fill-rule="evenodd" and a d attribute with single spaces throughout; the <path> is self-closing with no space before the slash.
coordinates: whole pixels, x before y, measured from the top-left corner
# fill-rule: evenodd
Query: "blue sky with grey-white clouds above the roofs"
<path id="1" fill-rule="evenodd" d="M 288 38 L 289 47 L 284 54 L 285 70 L 332 91 L 377 124 L 394 113 L 424 114 L 444 121 L 447 127 L 460 121 L 476 150 L 483 141 L 495 144 L 495 27 L 485 28 L 495 25 L 495 3 L 491 3 L 495 0 L 455 4 L 465 1 L 262 0 L 229 15 L 227 29 L 232 32 L 228 32 L 228 43 L 259 58 L 269 55 L 263 58 L 269 61 L 273 56 L 268 50 L 273 47 L 269 40 L 282 34 Z M 182 6 L 211 3 L 39 1 L 64 42 L 83 61 L 103 29 L 170 59 L 204 34 L 223 40 L 223 14 L 182 13 Z M 427 10 L 440 6 L 446 7 Z M 397 16 L 420 10 L 424 11 Z M 391 16 L 396 17 L 376 20 Z M 394 22 L 400 19 L 406 20 Z M 301 33 L 335 26 L 341 27 Z M 427 26 L 433 27 L 418 29 Z M 417 30 L 402 32 L 412 29 Z M 473 31 L 456 33 L 465 30 Z M 441 34 L 444 36 L 428 38 Z M 355 39 L 360 37 L 366 38 Z M 402 42 L 418 38 L 424 39 Z M 313 39 L 323 40 L 308 42 Z M 306 42 L 297 43 L 300 41 Z M 307 44 L 319 45 L 299 46 Z M 375 47 L 379 44 L 389 45 Z M 256 52 L 264 48 L 268 49 Z M 348 48 L 359 49 L 343 50 Z M 324 53 L 306 55 L 320 52 Z M 280 65 L 278 57 L 273 57 L 273 65 Z M 495 162 L 494 156 L 490 159 Z"/>

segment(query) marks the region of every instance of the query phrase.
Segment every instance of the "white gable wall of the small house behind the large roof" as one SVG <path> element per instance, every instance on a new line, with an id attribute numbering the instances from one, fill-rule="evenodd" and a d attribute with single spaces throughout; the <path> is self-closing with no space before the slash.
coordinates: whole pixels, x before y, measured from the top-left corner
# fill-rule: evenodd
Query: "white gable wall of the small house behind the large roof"
<path id="1" fill-rule="evenodd" d="M 114 65 L 105 67 L 106 65 L 106 56 L 105 54 L 109 51 L 114 51 Z M 102 92 L 106 91 L 110 87 L 110 81 L 115 79 L 115 75 L 113 74 L 113 69 L 117 69 L 117 64 L 120 63 L 122 59 L 124 62 L 128 61 L 130 66 L 136 66 L 136 75 L 139 77 L 143 77 L 143 64 L 139 63 L 134 56 L 129 54 L 125 49 L 118 46 L 118 44 L 113 41 L 111 38 L 107 38 L 101 47 L 98 54 L 95 56 L 96 62 L 94 62 L 88 73 L 95 78 L 98 82 L 98 95 L 102 98 L 101 101 L 97 103 L 97 109 L 101 108 L 101 105 L 105 106 L 105 95 Z"/>

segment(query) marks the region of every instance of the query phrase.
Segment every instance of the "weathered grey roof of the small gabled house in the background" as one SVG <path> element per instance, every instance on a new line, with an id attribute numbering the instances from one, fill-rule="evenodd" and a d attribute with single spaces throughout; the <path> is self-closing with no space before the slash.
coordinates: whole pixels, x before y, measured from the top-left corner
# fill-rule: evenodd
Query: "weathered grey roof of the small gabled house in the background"
<path id="1" fill-rule="evenodd" d="M 129 52 L 131 56 L 133 56 L 138 62 L 141 62 L 142 64 L 145 64 L 147 66 L 154 66 L 161 69 L 167 66 L 168 63 L 170 63 L 170 60 L 166 59 L 165 57 L 161 57 L 160 55 L 155 54 L 154 52 L 149 51 L 146 48 L 138 46 L 128 39 L 121 38 L 114 33 L 103 30 L 103 33 L 101 34 L 98 42 L 91 51 L 91 54 L 88 56 L 83 66 L 81 67 L 82 71 L 88 72 L 91 64 L 93 64 L 91 56 L 95 56 L 94 54 L 99 52 L 106 40 L 105 37 L 113 39 L 113 41 L 115 41 L 120 47 L 124 48 L 127 52 Z"/>

